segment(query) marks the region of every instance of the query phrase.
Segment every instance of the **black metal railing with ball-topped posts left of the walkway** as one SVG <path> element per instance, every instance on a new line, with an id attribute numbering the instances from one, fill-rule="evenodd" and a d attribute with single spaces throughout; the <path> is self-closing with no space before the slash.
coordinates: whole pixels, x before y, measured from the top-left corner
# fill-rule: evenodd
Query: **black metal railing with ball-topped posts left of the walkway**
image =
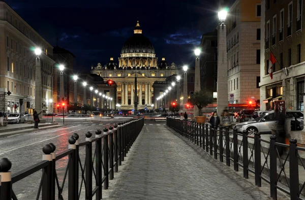
<path id="1" fill-rule="evenodd" d="M 114 127 L 109 127 L 109 129 L 104 128 L 103 134 L 101 134 L 101 130 L 97 130 L 95 138 L 92 138 L 92 133 L 87 132 L 85 134 L 85 142 L 82 143 L 78 143 L 79 135 L 74 133 L 69 138 L 68 150 L 56 155 L 56 147 L 52 143 L 45 145 L 43 147 L 42 161 L 12 176 L 10 172 L 12 163 L 7 158 L 1 159 L 0 199 L 17 200 L 18 198 L 13 190 L 14 183 L 39 171 L 42 171 L 42 176 L 36 199 L 76 200 L 81 198 L 81 194 L 84 199 L 92 200 L 93 196 L 96 196 L 96 199 L 101 199 L 102 184 L 104 189 L 108 189 L 109 180 L 114 178 L 114 173 L 118 171 L 118 166 L 124 161 L 124 157 L 126 157 L 143 125 L 144 119 L 141 118 L 118 123 Z M 95 150 L 93 150 L 93 145 Z M 80 157 L 81 151 L 84 151 L 82 153 L 85 154 L 83 164 Z M 59 166 L 65 168 L 65 175 L 61 180 L 62 183 L 60 183 L 56 164 L 62 159 L 67 159 L 68 161 L 66 166 Z M 65 182 L 67 180 L 68 190 L 65 190 Z M 83 187 L 84 190 L 82 189 Z M 57 197 L 55 197 L 56 194 Z"/>

